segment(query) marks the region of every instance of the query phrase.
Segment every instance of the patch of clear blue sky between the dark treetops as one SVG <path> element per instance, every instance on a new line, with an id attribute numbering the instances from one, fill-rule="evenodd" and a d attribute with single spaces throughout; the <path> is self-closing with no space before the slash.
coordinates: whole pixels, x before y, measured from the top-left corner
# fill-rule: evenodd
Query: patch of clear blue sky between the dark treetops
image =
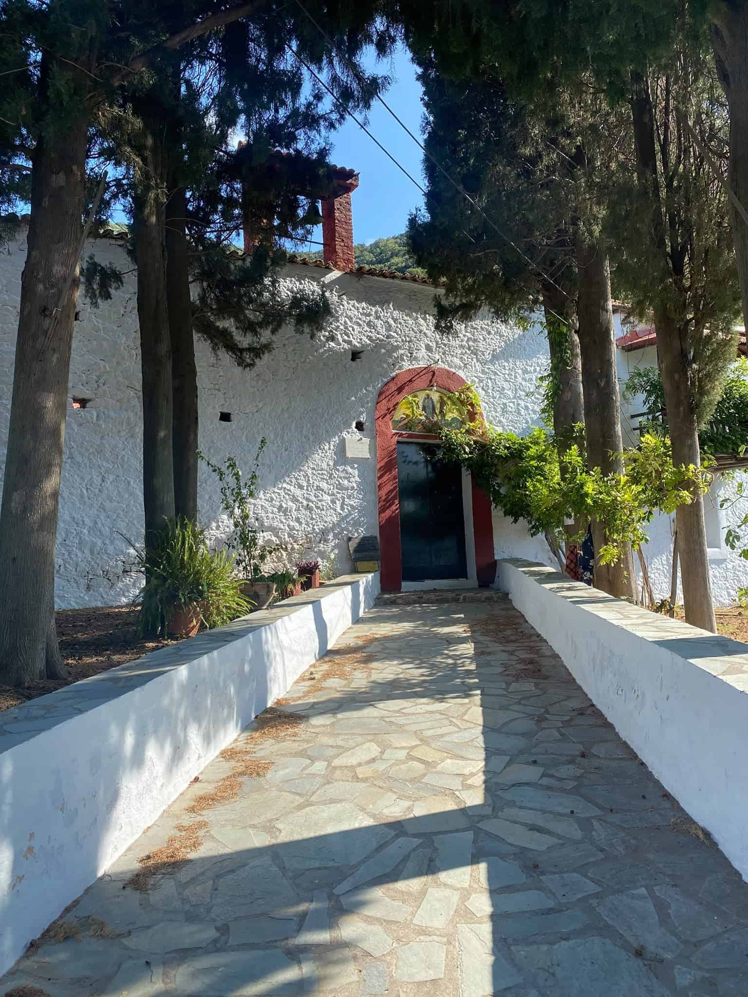
<path id="1" fill-rule="evenodd" d="M 375 66 L 374 60 L 369 63 Z M 379 64 L 379 72 L 389 73 L 394 82 L 384 99 L 414 135 L 421 138 L 421 86 L 416 80 L 410 55 L 398 49 L 392 62 Z M 408 172 L 423 183 L 423 153 L 377 101 L 369 113 L 369 131 Z M 408 215 L 423 203 L 423 194 L 400 172 L 371 139 L 350 119 L 332 136 L 333 163 L 361 173 L 358 190 L 352 196 L 353 238 L 371 242 L 405 229 Z"/>

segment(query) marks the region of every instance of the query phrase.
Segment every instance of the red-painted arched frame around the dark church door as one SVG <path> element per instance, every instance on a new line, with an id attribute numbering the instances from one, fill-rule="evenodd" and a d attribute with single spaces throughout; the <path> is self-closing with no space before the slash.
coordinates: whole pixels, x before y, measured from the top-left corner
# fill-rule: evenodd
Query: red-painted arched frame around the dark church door
<path id="1" fill-rule="evenodd" d="M 457 391 L 467 381 L 444 367 L 412 367 L 400 371 L 379 392 L 376 408 L 377 493 L 379 499 L 379 546 L 381 584 L 386 592 L 402 587 L 403 561 L 400 547 L 400 498 L 397 488 L 397 441 L 424 439 L 413 434 L 396 433 L 392 418 L 399 403 L 414 391 L 442 388 Z M 428 439 L 428 438 L 426 438 Z M 496 575 L 494 524 L 491 499 L 473 483 L 473 534 L 476 545 L 476 575 L 479 585 L 490 585 Z"/>

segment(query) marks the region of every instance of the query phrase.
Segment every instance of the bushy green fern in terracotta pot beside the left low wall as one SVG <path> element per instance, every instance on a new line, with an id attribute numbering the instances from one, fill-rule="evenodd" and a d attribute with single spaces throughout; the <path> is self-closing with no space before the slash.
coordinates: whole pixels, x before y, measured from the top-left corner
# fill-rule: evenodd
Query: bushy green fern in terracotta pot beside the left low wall
<path id="1" fill-rule="evenodd" d="M 210 551 L 204 532 L 191 519 L 170 520 L 141 556 L 146 584 L 140 593 L 143 633 L 166 633 L 175 607 L 199 603 L 210 629 L 249 612 L 242 598 L 233 557 Z"/>

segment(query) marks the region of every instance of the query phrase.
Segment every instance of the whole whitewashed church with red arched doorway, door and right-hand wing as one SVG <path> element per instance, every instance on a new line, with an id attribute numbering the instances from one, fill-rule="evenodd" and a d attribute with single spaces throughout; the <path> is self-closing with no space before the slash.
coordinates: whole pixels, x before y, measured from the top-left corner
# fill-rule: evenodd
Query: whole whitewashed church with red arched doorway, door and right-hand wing
<path id="1" fill-rule="evenodd" d="M 433 286 L 349 269 L 354 185 L 323 205 L 331 262 L 297 260 L 283 275 L 289 291 L 303 283 L 325 286 L 332 304 L 326 335 L 312 342 L 285 330 L 248 372 L 197 343 L 200 449 L 217 463 L 234 455 L 248 470 L 260 439 L 267 440 L 256 516 L 265 539 L 284 544 L 290 562 L 318 557 L 344 571 L 350 567 L 348 538 L 378 534 L 383 587 L 389 588 L 490 583 L 499 557 L 554 563 L 542 537 L 492 511 L 465 473 L 424 462 L 407 435 L 393 429 L 403 398 L 427 392 L 438 403 L 439 389 L 465 383 L 476 386 L 487 420 L 498 428 L 522 434 L 538 425 L 537 383 L 549 363 L 542 328 L 522 330 L 487 315 L 444 337 L 434 326 Z M 105 231 L 86 255 L 91 251 L 130 271 L 123 238 Z M 0 256 L 3 462 L 25 252 L 22 239 Z M 630 365 L 656 362 L 651 346 L 620 349 L 618 358 L 621 381 Z M 57 543 L 61 608 L 124 603 L 140 586 L 124 536 L 138 542 L 143 533 L 141 404 L 131 272 L 98 309 L 82 301 L 76 325 Z M 632 411 L 640 409 L 624 404 L 631 440 Z M 230 421 L 221 421 L 220 413 L 230 413 Z M 737 507 L 727 515 L 719 509 L 724 489 L 715 483 L 709 497 L 707 531 L 715 597 L 728 605 L 737 587 L 748 584 L 748 562 L 724 547 L 727 521 L 742 516 Z M 201 523 L 219 540 L 227 522 L 204 467 L 198 502 Z M 669 517 L 658 516 L 650 535 L 646 557 L 661 597 L 670 588 Z"/>

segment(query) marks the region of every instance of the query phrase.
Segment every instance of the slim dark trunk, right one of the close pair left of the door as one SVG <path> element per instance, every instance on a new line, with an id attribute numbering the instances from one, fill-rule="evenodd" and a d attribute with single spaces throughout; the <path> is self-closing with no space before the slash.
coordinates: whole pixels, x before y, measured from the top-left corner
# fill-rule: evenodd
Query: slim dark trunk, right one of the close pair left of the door
<path id="1" fill-rule="evenodd" d="M 184 187 L 170 182 L 167 201 L 167 298 L 172 339 L 174 396 L 174 491 L 177 515 L 197 519 L 197 370 L 194 363 L 192 303 L 187 254 L 187 197 Z"/>

